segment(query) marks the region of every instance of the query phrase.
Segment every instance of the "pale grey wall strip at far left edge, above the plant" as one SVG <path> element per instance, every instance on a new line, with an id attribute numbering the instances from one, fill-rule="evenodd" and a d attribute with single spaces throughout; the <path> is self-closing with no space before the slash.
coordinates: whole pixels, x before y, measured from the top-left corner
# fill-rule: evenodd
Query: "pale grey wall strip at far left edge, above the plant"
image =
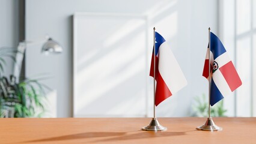
<path id="1" fill-rule="evenodd" d="M 0 47 L 17 47 L 19 43 L 19 2 L 0 0 Z M 13 72 L 13 61 L 6 59 L 5 76 Z"/>

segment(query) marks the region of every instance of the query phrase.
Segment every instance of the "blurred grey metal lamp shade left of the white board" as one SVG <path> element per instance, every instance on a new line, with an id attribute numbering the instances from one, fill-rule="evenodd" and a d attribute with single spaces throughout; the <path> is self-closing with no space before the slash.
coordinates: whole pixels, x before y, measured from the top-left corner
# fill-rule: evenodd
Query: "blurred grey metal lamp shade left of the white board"
<path id="1" fill-rule="evenodd" d="M 46 43 L 43 44 L 42 53 L 61 53 L 62 47 L 52 38 L 49 38 Z"/>

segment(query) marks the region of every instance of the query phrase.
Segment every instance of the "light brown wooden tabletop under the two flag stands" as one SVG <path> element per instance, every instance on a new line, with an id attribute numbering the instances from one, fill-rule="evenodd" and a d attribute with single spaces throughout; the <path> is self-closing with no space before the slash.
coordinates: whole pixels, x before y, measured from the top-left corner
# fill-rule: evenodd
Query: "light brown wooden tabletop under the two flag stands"
<path id="1" fill-rule="evenodd" d="M 151 118 L 0 119 L 0 143 L 256 143 L 256 118 L 213 118 L 222 131 L 198 131 L 206 118 L 158 118 L 167 131 L 141 128 Z"/>

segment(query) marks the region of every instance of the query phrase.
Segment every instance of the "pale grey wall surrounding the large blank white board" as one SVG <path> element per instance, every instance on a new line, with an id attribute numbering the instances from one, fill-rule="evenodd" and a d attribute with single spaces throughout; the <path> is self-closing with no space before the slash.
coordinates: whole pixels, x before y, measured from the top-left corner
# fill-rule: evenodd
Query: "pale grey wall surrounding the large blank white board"
<path id="1" fill-rule="evenodd" d="M 36 40 L 49 34 L 64 47 L 61 55 L 47 57 L 40 54 L 40 46 L 26 50 L 26 76 L 40 73 L 53 76 L 44 83 L 56 91 L 58 117 L 72 116 L 72 15 L 75 12 L 144 14 L 150 19 L 150 27 L 156 26 L 165 37 L 188 85 L 163 101 L 157 107 L 157 116 L 189 116 L 193 97 L 207 94 L 207 80 L 201 74 L 209 26 L 218 34 L 218 1 L 27 0 L 26 39 Z"/>

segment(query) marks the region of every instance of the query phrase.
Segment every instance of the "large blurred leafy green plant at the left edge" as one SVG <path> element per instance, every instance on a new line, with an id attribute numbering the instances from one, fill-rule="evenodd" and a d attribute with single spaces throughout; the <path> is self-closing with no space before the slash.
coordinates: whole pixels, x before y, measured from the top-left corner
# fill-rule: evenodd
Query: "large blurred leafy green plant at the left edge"
<path id="1" fill-rule="evenodd" d="M 0 49 L 0 117 L 41 117 L 45 111 L 46 101 L 44 89 L 49 89 L 38 79 L 23 79 L 16 82 L 13 75 L 8 79 L 2 76 L 5 58 L 11 58 L 16 62 L 17 50 L 11 48 Z"/>

